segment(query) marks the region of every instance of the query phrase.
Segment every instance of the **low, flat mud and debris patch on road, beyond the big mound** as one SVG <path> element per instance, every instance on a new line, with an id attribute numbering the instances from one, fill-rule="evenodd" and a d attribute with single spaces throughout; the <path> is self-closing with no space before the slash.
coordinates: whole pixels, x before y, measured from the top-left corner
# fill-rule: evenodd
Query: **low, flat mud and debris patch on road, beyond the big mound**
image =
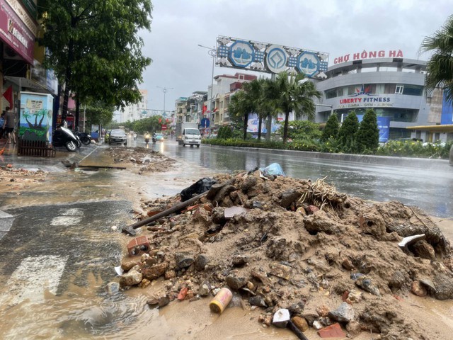
<path id="1" fill-rule="evenodd" d="M 132 165 L 138 174 L 168 171 L 175 163 L 160 152 L 145 147 L 110 147 L 108 152 L 115 164 Z"/>

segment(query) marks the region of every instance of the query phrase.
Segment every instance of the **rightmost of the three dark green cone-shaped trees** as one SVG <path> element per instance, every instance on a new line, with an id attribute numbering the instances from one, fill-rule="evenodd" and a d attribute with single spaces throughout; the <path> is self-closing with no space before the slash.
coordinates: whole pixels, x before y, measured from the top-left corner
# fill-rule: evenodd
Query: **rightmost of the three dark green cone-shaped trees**
<path id="1" fill-rule="evenodd" d="M 365 111 L 359 130 L 357 131 L 357 151 L 376 152 L 379 147 L 379 128 L 376 113 L 372 108 Z"/>

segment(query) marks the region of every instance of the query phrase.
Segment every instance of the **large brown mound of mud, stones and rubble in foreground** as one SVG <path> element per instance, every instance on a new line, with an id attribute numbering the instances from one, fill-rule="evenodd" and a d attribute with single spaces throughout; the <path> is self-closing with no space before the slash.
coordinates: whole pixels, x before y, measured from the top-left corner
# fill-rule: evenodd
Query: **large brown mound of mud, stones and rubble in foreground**
<path id="1" fill-rule="evenodd" d="M 177 201 L 143 205 L 151 216 Z M 228 287 L 243 307 L 263 310 L 264 324 L 285 308 L 299 329 L 338 322 L 349 336 L 426 339 L 398 302 L 410 293 L 453 298 L 452 247 L 425 212 L 366 203 L 323 179 L 220 175 L 197 205 L 147 229 L 129 246 L 120 285 L 164 280 L 150 305 Z"/>

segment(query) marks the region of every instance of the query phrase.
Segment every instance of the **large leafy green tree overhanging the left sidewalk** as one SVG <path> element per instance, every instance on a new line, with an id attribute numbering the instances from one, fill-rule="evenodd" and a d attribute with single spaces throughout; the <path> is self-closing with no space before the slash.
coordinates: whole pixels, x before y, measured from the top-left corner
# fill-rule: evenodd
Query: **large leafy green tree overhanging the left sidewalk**
<path id="1" fill-rule="evenodd" d="M 151 60 L 142 55 L 139 30 L 151 26 L 150 0 L 39 0 L 47 47 L 45 66 L 64 84 L 63 118 L 69 93 L 77 103 L 96 98 L 124 107 L 141 98 L 137 82 Z"/>

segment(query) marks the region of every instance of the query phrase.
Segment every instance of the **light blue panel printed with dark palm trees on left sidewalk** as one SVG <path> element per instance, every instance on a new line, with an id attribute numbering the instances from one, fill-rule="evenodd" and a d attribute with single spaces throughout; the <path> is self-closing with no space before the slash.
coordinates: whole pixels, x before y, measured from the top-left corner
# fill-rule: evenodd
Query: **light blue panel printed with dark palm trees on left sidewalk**
<path id="1" fill-rule="evenodd" d="M 52 108 L 50 94 L 21 92 L 19 136 L 23 140 L 52 142 Z"/>

